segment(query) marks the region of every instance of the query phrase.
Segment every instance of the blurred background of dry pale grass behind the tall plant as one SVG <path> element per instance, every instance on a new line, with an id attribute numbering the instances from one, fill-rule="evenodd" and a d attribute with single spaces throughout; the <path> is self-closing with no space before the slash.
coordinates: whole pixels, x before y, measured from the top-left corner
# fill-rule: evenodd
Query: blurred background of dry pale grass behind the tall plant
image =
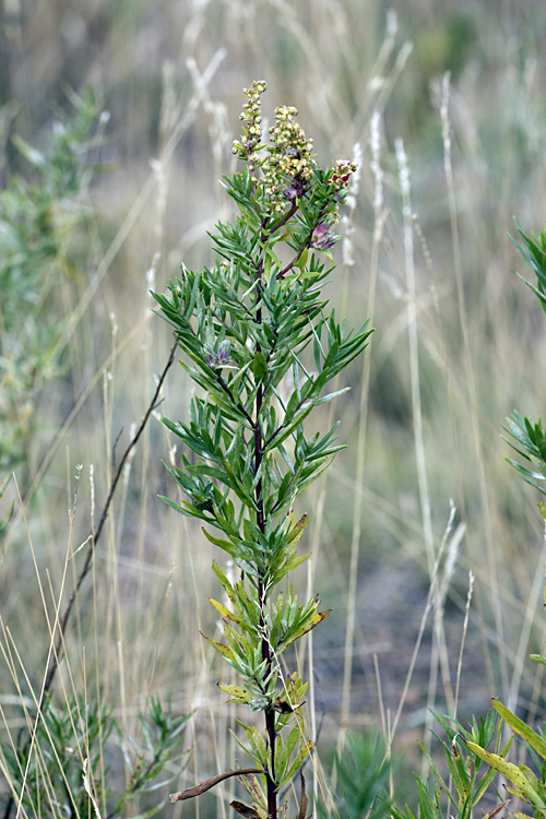
<path id="1" fill-rule="evenodd" d="M 329 296 L 377 332 L 335 407 L 348 447 L 300 502 L 313 560 L 294 578 L 334 609 L 299 657 L 316 775 L 346 728 L 382 731 L 413 759 L 427 707 L 464 719 L 495 695 L 543 720 L 542 666 L 526 662 L 543 644 L 543 526 L 500 425 L 546 407 L 542 311 L 510 273 L 522 262 L 508 238 L 514 215 L 525 232 L 546 222 L 544 3 L 3 0 L 0 15 L 0 488 L 15 477 L 0 498 L 0 519 L 13 510 L 0 534 L 3 737 L 16 740 L 39 695 L 79 548 L 168 358 L 149 289 L 181 261 L 209 263 L 207 232 L 230 215 L 218 180 L 236 169 L 254 79 L 270 116 L 298 108 L 321 163 L 363 151 L 340 227 L 354 264 L 337 246 Z M 56 681 L 60 700 L 93 691 L 135 736 L 152 695 L 198 709 L 180 787 L 235 764 L 235 709 L 199 637 L 217 628 L 218 555 L 157 500 L 174 495 L 162 460 L 176 456 L 161 415 L 183 417 L 189 389 L 174 367 Z M 230 787 L 202 809 L 225 815 Z"/>

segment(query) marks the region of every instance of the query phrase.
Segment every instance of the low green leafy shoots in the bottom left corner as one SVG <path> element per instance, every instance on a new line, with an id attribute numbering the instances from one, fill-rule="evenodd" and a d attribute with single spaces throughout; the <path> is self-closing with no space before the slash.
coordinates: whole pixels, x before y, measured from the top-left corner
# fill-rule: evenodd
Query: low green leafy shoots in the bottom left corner
<path id="1" fill-rule="evenodd" d="M 142 740 L 136 741 L 123 734 L 110 710 L 83 698 L 62 708 L 48 700 L 38 720 L 36 713 L 27 716 L 36 725 L 33 741 L 17 750 L 8 743 L 1 747 L 3 773 L 23 808 L 33 816 L 87 816 L 85 773 L 103 819 L 120 816 L 138 795 L 169 781 L 164 774 L 158 783 L 157 776 L 169 760 L 180 763 L 189 719 L 174 716 L 170 708 L 164 711 L 159 700 L 152 699 L 139 715 Z M 115 792 L 110 769 L 119 761 L 120 746 L 128 774 L 121 792 Z M 164 804 L 154 805 L 146 816 L 154 816 Z"/>

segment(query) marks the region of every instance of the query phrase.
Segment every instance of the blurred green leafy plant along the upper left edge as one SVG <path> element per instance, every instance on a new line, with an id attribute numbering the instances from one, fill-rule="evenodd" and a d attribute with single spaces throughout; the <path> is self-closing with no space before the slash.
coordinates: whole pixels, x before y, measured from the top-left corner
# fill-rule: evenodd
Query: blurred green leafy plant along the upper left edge
<path id="1" fill-rule="evenodd" d="M 61 277 L 73 277 L 68 245 L 84 215 L 90 134 L 98 109 L 86 95 L 38 151 L 14 140 L 31 165 L 0 192 L 0 464 L 27 456 L 38 390 L 61 372 L 63 322 L 55 306 Z"/>

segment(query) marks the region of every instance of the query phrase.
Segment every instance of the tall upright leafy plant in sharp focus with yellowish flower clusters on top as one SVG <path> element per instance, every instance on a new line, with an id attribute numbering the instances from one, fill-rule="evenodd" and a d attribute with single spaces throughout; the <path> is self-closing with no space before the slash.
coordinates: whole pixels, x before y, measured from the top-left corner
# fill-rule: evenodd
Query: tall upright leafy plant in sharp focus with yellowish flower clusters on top
<path id="1" fill-rule="evenodd" d="M 224 177 L 239 215 L 217 225 L 212 238 L 218 260 L 200 272 L 182 265 L 168 294 L 155 295 L 183 353 L 181 365 L 201 388 L 189 418 L 164 419 L 183 442 L 180 465 L 169 470 L 182 500 L 165 500 L 201 520 L 204 536 L 240 570 L 230 582 L 213 565 L 228 605 L 211 601 L 224 618 L 225 642 L 209 642 L 241 681 L 219 688 L 264 721 L 263 733 L 253 721 L 240 723 L 246 741 L 239 744 L 252 768 L 214 776 L 171 800 L 237 774 L 252 805 L 233 807 L 247 819 L 276 819 L 280 788 L 310 751 L 302 714 L 307 684 L 283 672 L 280 657 L 329 612 L 319 612 L 316 596 L 301 603 L 284 579 L 308 557 L 297 551 L 307 515 L 295 517 L 296 499 L 341 447 L 337 425 L 309 436 L 304 422 L 348 389 L 325 392 L 371 332 L 368 322 L 347 332 L 333 310 L 325 312 L 321 295 L 333 269 L 339 206 L 356 165 L 322 169 L 292 107 L 275 110 L 265 142 L 264 91 L 264 82 L 245 91 L 242 138 L 234 143 L 244 168 Z M 304 819 L 306 803 L 302 786 Z"/>

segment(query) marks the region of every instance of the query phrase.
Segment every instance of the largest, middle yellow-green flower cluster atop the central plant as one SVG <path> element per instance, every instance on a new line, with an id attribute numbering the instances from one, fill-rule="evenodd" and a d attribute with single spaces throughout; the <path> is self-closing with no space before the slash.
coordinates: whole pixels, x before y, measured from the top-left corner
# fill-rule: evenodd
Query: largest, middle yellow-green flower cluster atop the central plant
<path id="1" fill-rule="evenodd" d="M 312 178 L 312 140 L 294 120 L 296 108 L 281 105 L 275 124 L 269 130 L 270 155 L 263 167 L 262 183 L 274 211 L 282 213 L 288 201 L 300 197 Z"/>

